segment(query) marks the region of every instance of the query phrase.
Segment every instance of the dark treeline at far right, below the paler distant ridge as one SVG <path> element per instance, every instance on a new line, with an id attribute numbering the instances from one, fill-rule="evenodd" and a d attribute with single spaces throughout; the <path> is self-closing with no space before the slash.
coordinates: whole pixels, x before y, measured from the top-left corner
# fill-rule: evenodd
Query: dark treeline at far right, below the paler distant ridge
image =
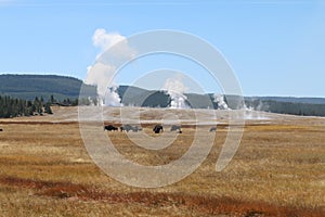
<path id="1" fill-rule="evenodd" d="M 325 116 L 325 104 L 280 102 L 273 100 L 246 100 L 245 104 L 247 107 L 264 112 L 303 116 Z"/>

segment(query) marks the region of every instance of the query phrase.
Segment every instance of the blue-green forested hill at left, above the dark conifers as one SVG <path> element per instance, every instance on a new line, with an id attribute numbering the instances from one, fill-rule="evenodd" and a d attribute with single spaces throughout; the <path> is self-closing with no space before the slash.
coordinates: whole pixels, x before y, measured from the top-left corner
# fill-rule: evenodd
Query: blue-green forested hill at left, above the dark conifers
<path id="1" fill-rule="evenodd" d="M 79 95 L 82 81 L 66 76 L 56 75 L 0 75 L 0 95 L 10 95 L 25 100 L 51 94 L 57 100 L 76 99 Z M 95 92 L 95 87 L 88 86 Z"/>

